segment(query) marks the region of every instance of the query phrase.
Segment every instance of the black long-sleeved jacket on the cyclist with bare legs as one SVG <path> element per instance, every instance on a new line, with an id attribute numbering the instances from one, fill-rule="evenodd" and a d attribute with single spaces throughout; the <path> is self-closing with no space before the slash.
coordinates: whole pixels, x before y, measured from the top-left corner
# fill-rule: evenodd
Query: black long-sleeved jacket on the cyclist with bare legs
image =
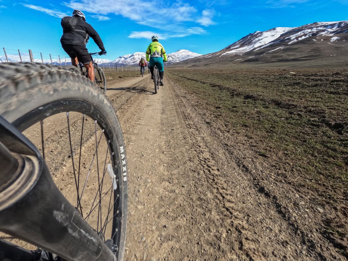
<path id="1" fill-rule="evenodd" d="M 86 44 L 89 40 L 89 36 L 92 37 L 94 42 L 102 51 L 105 51 L 102 39 L 100 39 L 99 34 L 93 29 L 92 25 L 86 23 L 81 18 L 78 19 L 78 22 L 74 30 L 68 31 L 63 28 L 61 44 L 78 45 L 86 47 Z"/>

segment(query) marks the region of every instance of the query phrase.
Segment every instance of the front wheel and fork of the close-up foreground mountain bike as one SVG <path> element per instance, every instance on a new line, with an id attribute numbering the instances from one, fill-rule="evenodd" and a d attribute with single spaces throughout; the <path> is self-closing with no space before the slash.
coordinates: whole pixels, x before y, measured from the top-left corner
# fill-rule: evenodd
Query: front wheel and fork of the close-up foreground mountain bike
<path id="1" fill-rule="evenodd" d="M 0 169 L 1 260 L 124 259 L 125 145 L 88 78 L 0 64 Z"/>

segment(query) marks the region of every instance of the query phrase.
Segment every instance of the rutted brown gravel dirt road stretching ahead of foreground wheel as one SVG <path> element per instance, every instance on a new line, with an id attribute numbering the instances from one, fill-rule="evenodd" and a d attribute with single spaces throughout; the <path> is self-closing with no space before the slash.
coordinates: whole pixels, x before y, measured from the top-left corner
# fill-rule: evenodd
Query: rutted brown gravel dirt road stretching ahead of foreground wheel
<path id="1" fill-rule="evenodd" d="M 129 164 L 126 260 L 345 260 L 313 204 L 229 133 L 206 124 L 169 78 L 108 87 Z"/>

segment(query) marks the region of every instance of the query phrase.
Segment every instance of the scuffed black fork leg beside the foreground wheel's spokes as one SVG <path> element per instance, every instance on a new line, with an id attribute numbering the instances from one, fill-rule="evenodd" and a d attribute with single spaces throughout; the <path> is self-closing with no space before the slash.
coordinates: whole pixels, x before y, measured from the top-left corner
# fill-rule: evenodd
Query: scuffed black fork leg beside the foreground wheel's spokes
<path id="1" fill-rule="evenodd" d="M 1 116 L 0 169 L 0 231 L 68 260 L 116 260 L 112 240 L 105 243 L 86 223 L 56 187 L 38 149 Z M 38 260 L 38 252 L 5 240 L 0 250 L 11 260 Z"/>

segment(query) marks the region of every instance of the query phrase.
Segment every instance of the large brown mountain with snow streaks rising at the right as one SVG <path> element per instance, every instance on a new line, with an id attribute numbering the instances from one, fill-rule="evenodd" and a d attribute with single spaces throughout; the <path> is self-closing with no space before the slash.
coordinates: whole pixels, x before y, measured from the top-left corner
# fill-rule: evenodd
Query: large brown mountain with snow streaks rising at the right
<path id="1" fill-rule="evenodd" d="M 226 48 L 179 63 L 209 64 L 328 61 L 347 57 L 348 21 L 315 22 L 298 27 L 256 31 Z M 343 60 L 342 60 L 343 62 Z M 322 62 L 324 63 L 324 62 Z"/>

